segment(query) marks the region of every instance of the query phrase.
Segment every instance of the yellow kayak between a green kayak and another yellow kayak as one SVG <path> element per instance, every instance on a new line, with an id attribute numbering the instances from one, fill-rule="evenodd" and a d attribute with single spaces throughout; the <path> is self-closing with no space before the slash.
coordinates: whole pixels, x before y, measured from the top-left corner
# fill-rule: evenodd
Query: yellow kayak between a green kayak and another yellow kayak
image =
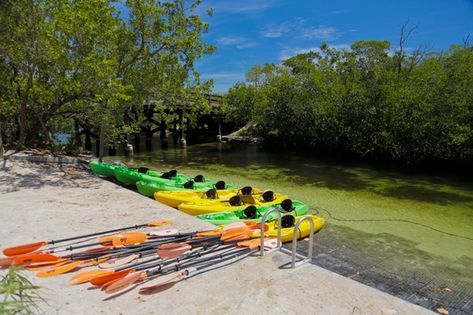
<path id="1" fill-rule="evenodd" d="M 224 189 L 215 191 L 215 189 L 209 189 L 207 191 L 158 191 L 154 194 L 154 199 L 168 206 L 177 208 L 181 203 L 199 202 L 202 200 L 229 200 L 231 197 L 238 194 L 254 196 L 261 195 L 262 193 L 263 192 L 260 189 L 247 186 L 240 190 Z"/>

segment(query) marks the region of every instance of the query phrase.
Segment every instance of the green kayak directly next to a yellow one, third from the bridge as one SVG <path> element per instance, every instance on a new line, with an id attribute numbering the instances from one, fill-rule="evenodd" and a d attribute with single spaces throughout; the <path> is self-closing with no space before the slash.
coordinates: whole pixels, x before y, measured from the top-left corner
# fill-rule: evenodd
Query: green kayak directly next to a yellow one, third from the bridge
<path id="1" fill-rule="evenodd" d="M 179 182 L 146 175 L 136 182 L 136 188 L 138 188 L 140 194 L 148 197 L 153 197 L 154 193 L 158 191 L 234 189 L 232 185 L 226 184 L 224 181 L 205 180 L 204 182 L 197 182 L 190 179 L 186 182 Z"/>

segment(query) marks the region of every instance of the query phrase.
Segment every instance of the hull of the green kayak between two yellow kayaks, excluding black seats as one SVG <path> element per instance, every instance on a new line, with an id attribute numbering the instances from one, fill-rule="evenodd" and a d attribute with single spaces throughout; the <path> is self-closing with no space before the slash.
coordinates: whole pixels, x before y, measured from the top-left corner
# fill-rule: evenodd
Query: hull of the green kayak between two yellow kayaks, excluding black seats
<path id="1" fill-rule="evenodd" d="M 292 201 L 292 206 L 293 210 L 290 212 L 294 216 L 301 216 L 307 214 L 307 211 L 309 211 L 309 206 L 306 205 L 305 203 L 298 201 L 298 200 L 293 200 Z M 197 218 L 206 221 L 208 223 L 212 223 L 214 225 L 222 226 L 222 225 L 227 225 L 235 222 L 255 222 L 259 223 L 261 222 L 261 219 L 263 215 L 269 211 L 270 209 L 273 208 L 279 208 L 281 207 L 279 205 L 272 205 L 272 206 L 262 206 L 262 207 L 256 207 L 256 211 L 258 212 L 258 218 L 256 219 L 247 219 L 245 217 L 245 213 L 243 210 L 236 210 L 236 211 L 223 211 L 223 212 L 215 212 L 215 213 L 209 213 L 209 214 L 201 214 L 198 215 Z M 282 210 L 284 211 L 284 210 Z M 268 218 L 267 222 L 269 221 L 274 221 L 277 220 L 278 216 L 276 213 L 271 213 Z"/>

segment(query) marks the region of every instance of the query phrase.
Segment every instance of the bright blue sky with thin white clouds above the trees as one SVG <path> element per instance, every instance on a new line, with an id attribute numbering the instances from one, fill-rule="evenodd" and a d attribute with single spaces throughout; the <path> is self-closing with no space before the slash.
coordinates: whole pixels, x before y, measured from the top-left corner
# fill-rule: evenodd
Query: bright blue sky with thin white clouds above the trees
<path id="1" fill-rule="evenodd" d="M 210 31 L 205 40 L 217 51 L 197 63 L 214 91 L 225 93 L 256 64 L 282 60 L 323 42 L 347 48 L 353 41 L 380 39 L 393 45 L 401 26 L 417 26 L 406 46 L 448 49 L 470 33 L 473 0 L 202 0 L 199 11 Z"/>

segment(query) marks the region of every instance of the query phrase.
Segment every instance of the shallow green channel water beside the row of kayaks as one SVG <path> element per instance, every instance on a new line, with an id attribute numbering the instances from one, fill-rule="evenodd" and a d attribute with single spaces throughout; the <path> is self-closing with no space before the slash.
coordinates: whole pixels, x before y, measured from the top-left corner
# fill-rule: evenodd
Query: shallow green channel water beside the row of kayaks
<path id="1" fill-rule="evenodd" d="M 271 188 L 308 203 L 331 224 L 392 234 L 416 244 L 417 249 L 452 260 L 473 258 L 473 180 L 218 143 L 113 159 L 130 166 L 204 174 L 237 186 Z"/>

